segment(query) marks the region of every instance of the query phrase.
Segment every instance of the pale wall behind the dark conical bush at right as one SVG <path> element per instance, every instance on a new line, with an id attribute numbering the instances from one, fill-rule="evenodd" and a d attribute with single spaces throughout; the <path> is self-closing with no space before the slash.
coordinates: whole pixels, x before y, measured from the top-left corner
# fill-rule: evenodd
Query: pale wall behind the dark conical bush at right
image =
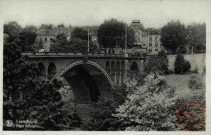
<path id="1" fill-rule="evenodd" d="M 177 55 L 168 55 L 168 61 L 169 61 L 169 69 L 174 71 L 174 62 L 176 60 Z M 198 69 L 198 73 L 203 73 L 204 68 L 206 67 L 206 54 L 200 53 L 200 54 L 185 54 L 184 55 L 185 60 L 190 62 L 191 65 L 191 71 Z"/>

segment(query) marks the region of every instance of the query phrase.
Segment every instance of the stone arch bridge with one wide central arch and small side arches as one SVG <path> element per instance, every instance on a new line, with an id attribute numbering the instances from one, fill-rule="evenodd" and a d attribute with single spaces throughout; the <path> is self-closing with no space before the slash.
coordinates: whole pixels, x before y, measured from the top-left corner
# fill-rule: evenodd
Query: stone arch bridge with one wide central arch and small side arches
<path id="1" fill-rule="evenodd" d="M 91 53 L 45 52 L 22 55 L 27 55 L 30 62 L 37 64 L 41 80 L 65 78 L 75 89 L 73 93 L 80 103 L 95 101 L 99 95 L 108 96 L 108 87 L 121 86 L 127 71 L 144 72 L 146 60 L 143 56 Z"/>

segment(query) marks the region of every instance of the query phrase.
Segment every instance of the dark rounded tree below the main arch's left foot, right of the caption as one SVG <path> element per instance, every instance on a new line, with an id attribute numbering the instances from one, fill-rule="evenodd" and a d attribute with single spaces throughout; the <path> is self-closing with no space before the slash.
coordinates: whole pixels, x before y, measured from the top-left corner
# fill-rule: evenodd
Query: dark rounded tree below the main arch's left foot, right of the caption
<path id="1" fill-rule="evenodd" d="M 61 130 L 67 124 L 67 117 L 62 111 L 63 101 L 57 80 L 40 83 L 27 99 L 29 119 L 37 119 L 44 130 Z"/>

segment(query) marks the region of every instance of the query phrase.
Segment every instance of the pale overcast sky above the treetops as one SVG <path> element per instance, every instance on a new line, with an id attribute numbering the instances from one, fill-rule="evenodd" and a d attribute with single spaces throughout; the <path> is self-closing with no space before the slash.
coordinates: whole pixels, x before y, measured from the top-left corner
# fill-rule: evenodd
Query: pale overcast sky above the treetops
<path id="1" fill-rule="evenodd" d="M 184 24 L 206 22 L 210 12 L 206 0 L 4 0 L 4 23 L 21 26 L 54 24 L 100 25 L 116 18 L 126 23 L 140 20 L 145 28 L 159 28 L 171 20 Z"/>

